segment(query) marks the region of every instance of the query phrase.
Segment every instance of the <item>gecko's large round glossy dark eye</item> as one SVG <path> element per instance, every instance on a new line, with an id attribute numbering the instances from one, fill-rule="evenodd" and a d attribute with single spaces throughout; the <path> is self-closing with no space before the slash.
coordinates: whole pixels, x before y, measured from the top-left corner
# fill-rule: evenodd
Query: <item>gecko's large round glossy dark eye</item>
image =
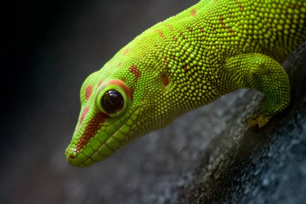
<path id="1" fill-rule="evenodd" d="M 124 105 L 123 96 L 119 91 L 109 90 L 101 98 L 102 108 L 109 113 L 119 112 Z"/>

